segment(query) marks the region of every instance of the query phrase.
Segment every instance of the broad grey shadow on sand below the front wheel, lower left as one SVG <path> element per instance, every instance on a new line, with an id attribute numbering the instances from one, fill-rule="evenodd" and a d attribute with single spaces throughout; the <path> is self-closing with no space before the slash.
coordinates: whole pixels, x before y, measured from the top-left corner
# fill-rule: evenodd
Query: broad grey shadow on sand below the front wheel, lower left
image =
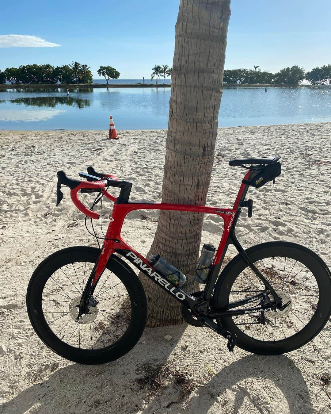
<path id="1" fill-rule="evenodd" d="M 72 365 L 51 373 L 46 380 L 0 405 L 0 414 L 115 413 L 143 404 L 137 396 L 136 368 L 144 363 L 165 363 L 187 325 L 146 328 L 138 344 L 122 358 L 103 365 Z M 165 335 L 171 334 L 167 341 Z M 133 401 L 133 402 L 132 402 Z M 116 408 L 120 406 L 121 408 Z"/>

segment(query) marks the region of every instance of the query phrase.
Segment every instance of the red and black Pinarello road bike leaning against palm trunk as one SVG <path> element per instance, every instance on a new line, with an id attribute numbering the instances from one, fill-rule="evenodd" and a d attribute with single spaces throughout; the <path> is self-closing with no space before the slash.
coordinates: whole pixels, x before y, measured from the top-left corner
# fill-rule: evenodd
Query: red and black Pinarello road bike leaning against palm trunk
<path id="1" fill-rule="evenodd" d="M 241 209 L 252 216 L 249 186 L 261 187 L 281 173 L 279 157 L 236 159 L 231 166 L 247 168 L 233 208 L 130 202 L 132 183 L 108 174 L 79 173 L 87 181 L 58 172 L 61 185 L 70 188 L 74 205 L 91 219 L 94 206 L 107 197 L 114 202 L 100 249 L 77 246 L 59 250 L 43 260 L 31 277 L 26 304 L 40 339 L 60 356 L 80 363 L 105 363 L 134 347 L 146 323 L 143 286 L 127 261 L 182 304 L 188 323 L 208 327 L 256 354 L 282 354 L 313 339 L 331 314 L 331 274 L 312 250 L 288 241 L 262 243 L 244 250 L 235 235 Z M 249 166 L 247 166 L 249 165 Z M 120 188 L 118 197 L 108 193 Z M 77 193 L 98 192 L 88 209 Z M 125 216 L 133 210 L 177 210 L 216 214 L 224 220 L 218 249 L 204 290 L 188 293 L 175 286 L 121 237 Z M 91 220 L 92 223 L 92 220 Z M 220 273 L 228 245 L 238 251 Z M 185 285 L 184 285 L 185 286 Z"/>

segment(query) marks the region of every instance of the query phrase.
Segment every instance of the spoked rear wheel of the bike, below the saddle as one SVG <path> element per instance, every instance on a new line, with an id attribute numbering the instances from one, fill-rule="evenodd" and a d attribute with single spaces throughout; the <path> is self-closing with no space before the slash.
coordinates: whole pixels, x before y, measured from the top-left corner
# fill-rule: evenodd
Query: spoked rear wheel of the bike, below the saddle
<path id="1" fill-rule="evenodd" d="M 312 340 L 331 314 L 331 275 L 324 261 L 312 250 L 289 242 L 263 243 L 246 250 L 247 255 L 273 286 L 283 311 L 247 313 L 218 320 L 237 335 L 237 345 L 255 354 L 277 355 L 293 351 Z M 272 295 L 237 255 L 223 270 L 215 293 L 218 310 L 258 307 L 261 298 L 238 307 L 234 303 L 266 292 Z"/>

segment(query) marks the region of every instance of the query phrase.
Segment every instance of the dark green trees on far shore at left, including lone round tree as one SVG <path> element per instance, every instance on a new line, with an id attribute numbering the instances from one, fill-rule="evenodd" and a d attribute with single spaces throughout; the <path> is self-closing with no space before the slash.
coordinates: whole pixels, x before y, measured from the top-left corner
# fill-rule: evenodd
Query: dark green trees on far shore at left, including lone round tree
<path id="1" fill-rule="evenodd" d="M 117 79 L 120 72 L 111 66 L 100 66 L 98 74 L 107 80 Z M 93 76 L 87 65 L 72 62 L 71 65 L 54 67 L 45 65 L 21 65 L 19 67 L 7 67 L 0 70 L 0 84 L 10 82 L 12 84 L 81 84 L 93 83 Z"/>

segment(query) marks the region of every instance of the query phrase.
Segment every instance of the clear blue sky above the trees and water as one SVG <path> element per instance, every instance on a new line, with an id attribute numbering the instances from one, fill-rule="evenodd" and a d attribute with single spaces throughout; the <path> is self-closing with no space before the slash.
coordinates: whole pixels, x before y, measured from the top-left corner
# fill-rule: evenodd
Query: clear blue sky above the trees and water
<path id="1" fill-rule="evenodd" d="M 0 47 L 0 69 L 77 60 L 91 67 L 94 78 L 100 65 L 115 67 L 122 79 L 148 78 L 154 64 L 172 65 L 178 6 L 178 0 L 2 2 L 0 46 L 15 39 L 41 42 L 1 38 L 9 34 L 60 46 Z M 285 66 L 310 70 L 331 64 L 330 21 L 329 0 L 233 0 L 225 68 L 259 65 L 277 72 Z"/>

